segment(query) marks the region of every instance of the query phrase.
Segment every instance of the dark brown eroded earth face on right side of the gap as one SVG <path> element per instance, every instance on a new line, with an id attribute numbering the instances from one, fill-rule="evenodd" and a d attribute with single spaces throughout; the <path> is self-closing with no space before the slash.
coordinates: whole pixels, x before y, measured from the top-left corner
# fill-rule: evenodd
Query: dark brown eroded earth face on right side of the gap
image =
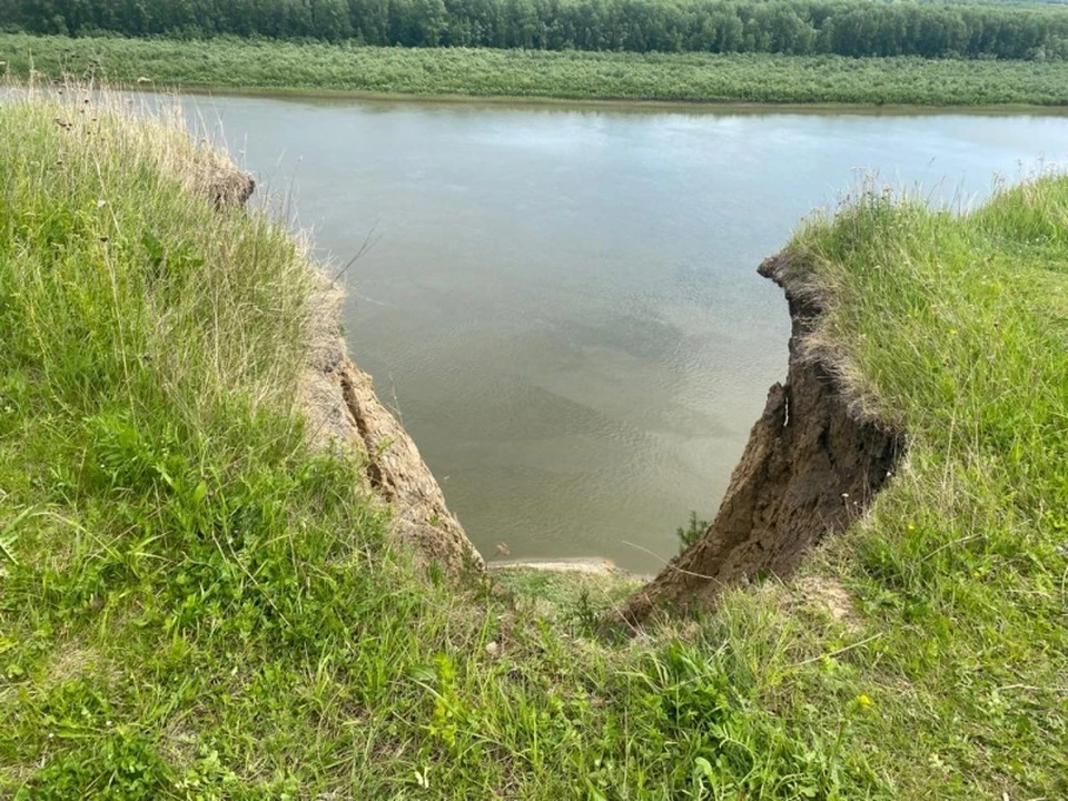
<path id="1" fill-rule="evenodd" d="M 760 273 L 785 290 L 790 305 L 787 382 L 769 390 L 704 535 L 615 610 L 614 622 L 636 625 L 660 606 L 714 605 L 725 587 L 789 575 L 828 533 L 863 513 L 903 448 L 900 433 L 858 419 L 825 365 L 804 353 L 819 300 L 782 258 Z"/>

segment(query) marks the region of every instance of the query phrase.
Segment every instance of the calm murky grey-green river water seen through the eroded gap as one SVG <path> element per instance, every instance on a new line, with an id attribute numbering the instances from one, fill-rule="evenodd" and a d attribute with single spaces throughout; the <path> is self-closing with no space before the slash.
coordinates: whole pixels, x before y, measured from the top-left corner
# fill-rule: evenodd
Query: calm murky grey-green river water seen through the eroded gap
<path id="1" fill-rule="evenodd" d="M 968 206 L 1068 118 L 198 98 L 345 273 L 357 363 L 490 558 L 651 572 L 789 320 L 755 268 L 864 174 Z M 500 546 L 500 547 L 498 547 Z"/>

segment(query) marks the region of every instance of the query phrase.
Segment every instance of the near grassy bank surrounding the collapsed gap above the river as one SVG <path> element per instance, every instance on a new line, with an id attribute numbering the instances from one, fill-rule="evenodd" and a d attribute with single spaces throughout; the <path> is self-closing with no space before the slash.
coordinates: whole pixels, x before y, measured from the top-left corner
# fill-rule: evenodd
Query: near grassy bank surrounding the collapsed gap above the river
<path id="1" fill-rule="evenodd" d="M 299 251 L 68 100 L 0 107 L 0 795 L 1068 793 L 1068 180 L 799 233 L 909 464 L 797 587 L 612 644 L 389 553 L 290 412 Z"/>

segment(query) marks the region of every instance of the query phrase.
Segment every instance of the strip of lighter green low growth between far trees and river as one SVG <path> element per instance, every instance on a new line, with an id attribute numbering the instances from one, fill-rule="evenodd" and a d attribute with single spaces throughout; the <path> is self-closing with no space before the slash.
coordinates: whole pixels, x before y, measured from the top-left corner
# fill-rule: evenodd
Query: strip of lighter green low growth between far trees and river
<path id="1" fill-rule="evenodd" d="M 600 100 L 1068 103 L 1068 62 L 633 55 L 0 34 L 0 61 L 57 78 L 356 93 Z"/>

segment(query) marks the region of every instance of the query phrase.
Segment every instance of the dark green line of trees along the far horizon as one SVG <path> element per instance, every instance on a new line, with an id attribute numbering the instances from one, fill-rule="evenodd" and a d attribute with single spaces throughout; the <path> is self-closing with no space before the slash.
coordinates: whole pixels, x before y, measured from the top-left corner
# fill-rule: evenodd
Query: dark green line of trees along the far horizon
<path id="1" fill-rule="evenodd" d="M 405 47 L 1068 58 L 1055 4 L 858 0 L 0 0 L 0 29 Z"/>

